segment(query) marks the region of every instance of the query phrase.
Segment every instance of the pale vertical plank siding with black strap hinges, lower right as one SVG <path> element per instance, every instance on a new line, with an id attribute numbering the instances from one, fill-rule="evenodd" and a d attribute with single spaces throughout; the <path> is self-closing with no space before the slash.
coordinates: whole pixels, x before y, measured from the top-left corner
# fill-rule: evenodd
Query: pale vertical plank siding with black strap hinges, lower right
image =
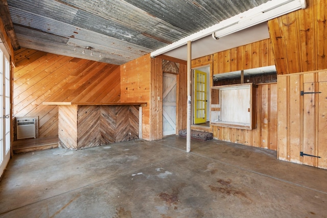
<path id="1" fill-rule="evenodd" d="M 278 158 L 326 169 L 327 71 L 280 75 L 277 81 Z"/>

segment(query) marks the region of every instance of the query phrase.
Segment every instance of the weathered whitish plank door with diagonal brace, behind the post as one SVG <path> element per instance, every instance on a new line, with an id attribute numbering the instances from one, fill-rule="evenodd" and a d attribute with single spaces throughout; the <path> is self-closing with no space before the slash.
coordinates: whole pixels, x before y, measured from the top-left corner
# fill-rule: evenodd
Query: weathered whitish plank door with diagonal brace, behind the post
<path id="1" fill-rule="evenodd" d="M 176 75 L 162 75 L 162 135 L 176 134 Z"/>

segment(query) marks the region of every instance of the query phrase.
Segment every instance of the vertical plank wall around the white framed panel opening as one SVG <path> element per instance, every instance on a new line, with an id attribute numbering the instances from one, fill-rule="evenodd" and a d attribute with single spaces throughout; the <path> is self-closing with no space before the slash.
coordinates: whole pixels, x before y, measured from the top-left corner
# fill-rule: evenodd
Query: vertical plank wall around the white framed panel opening
<path id="1" fill-rule="evenodd" d="M 270 39 L 254 42 L 192 60 L 192 67 L 212 63 L 213 74 L 274 65 Z M 214 137 L 248 146 L 277 150 L 276 83 L 260 84 L 256 89 L 257 127 L 241 130 L 212 126 Z"/>

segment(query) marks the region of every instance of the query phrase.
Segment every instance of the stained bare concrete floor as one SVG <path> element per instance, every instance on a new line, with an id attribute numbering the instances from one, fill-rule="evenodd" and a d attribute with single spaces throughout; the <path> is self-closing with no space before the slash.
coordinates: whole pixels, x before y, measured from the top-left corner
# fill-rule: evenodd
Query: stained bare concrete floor
<path id="1" fill-rule="evenodd" d="M 327 217 L 327 171 L 276 152 L 170 136 L 17 154 L 1 217 Z"/>

